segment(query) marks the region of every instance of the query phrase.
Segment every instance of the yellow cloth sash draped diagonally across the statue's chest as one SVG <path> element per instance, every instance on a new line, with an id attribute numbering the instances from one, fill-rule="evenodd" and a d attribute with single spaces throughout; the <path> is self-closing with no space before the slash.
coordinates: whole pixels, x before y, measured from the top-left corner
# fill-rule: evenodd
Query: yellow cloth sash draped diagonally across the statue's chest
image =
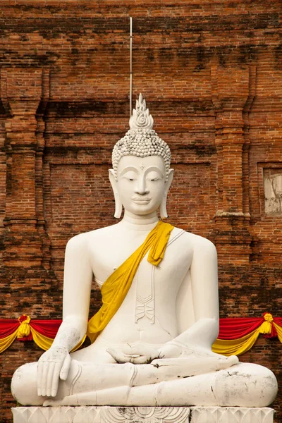
<path id="1" fill-rule="evenodd" d="M 158 266 L 164 258 L 166 244 L 173 226 L 159 221 L 145 242 L 107 278 L 101 288 L 102 307 L 88 322 L 87 336 L 93 343 L 99 332 L 111 321 L 128 293 L 142 259 L 149 251 L 148 262 Z"/>

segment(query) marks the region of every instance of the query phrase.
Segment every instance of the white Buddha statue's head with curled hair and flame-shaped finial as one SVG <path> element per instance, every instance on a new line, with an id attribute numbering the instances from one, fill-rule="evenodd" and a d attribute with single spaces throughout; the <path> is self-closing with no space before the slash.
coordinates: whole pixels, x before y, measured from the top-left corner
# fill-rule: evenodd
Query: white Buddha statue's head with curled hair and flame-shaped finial
<path id="1" fill-rule="evenodd" d="M 113 149 L 113 168 L 109 170 L 116 211 L 122 207 L 135 215 L 147 215 L 160 208 L 161 219 L 167 217 L 166 195 L 173 179 L 171 152 L 153 130 L 153 118 L 140 94 L 131 116 L 130 130 Z"/>

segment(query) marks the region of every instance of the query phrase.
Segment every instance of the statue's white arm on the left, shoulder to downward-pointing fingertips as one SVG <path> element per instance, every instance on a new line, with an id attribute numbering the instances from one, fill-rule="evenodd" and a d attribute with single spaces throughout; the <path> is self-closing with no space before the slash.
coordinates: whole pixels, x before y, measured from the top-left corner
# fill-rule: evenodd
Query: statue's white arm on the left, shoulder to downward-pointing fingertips
<path id="1" fill-rule="evenodd" d="M 68 241 L 63 277 L 63 322 L 54 343 L 38 362 L 38 395 L 56 396 L 59 378 L 66 380 L 71 351 L 85 336 L 90 305 L 92 269 L 86 234 Z"/>

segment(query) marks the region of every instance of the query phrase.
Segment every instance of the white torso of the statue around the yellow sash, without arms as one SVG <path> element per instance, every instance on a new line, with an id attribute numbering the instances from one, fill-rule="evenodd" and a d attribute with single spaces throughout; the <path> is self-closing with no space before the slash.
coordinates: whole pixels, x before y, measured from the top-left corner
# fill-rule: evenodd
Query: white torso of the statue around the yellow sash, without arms
<path id="1" fill-rule="evenodd" d="M 148 233 L 125 232 L 117 224 L 87 234 L 90 264 L 99 286 L 140 247 Z M 173 229 L 159 266 L 147 262 L 145 256 L 118 312 L 90 347 L 93 353 L 126 345 L 159 348 L 178 335 L 176 298 L 192 260 L 189 235 Z"/>

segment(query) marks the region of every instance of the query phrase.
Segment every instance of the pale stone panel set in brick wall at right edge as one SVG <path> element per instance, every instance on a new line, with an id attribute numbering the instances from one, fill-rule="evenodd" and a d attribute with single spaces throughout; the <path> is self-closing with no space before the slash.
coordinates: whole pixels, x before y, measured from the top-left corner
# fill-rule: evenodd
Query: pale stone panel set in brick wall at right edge
<path id="1" fill-rule="evenodd" d="M 264 211 L 282 215 L 282 168 L 264 169 Z"/>

